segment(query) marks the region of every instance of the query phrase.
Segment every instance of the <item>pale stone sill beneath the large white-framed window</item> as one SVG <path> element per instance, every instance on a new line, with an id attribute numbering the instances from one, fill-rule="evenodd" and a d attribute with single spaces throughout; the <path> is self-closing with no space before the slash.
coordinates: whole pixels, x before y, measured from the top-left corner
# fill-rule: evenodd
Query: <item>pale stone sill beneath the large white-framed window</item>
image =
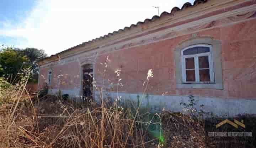
<path id="1" fill-rule="evenodd" d="M 218 83 L 177 83 L 177 89 L 192 88 L 192 89 L 223 89 L 223 84 Z"/>

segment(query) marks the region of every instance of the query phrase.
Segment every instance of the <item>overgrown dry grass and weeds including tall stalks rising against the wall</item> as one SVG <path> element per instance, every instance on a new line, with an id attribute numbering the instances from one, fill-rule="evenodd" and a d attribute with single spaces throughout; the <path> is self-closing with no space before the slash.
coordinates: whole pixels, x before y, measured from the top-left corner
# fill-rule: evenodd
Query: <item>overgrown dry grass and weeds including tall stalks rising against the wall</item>
<path id="1" fill-rule="evenodd" d="M 106 65 L 108 62 L 106 61 Z M 107 68 L 107 66 L 105 66 Z M 106 71 L 106 69 L 105 69 Z M 205 148 L 203 110 L 194 108 L 191 95 L 180 112 L 152 113 L 142 106 L 148 98 L 147 88 L 153 70 L 146 74 L 144 91 L 138 101 L 122 100 L 120 71 L 117 97 L 111 98 L 99 90 L 101 103 L 77 101 L 69 95 L 47 95 L 44 87 L 31 96 L 26 84 L 31 70 L 23 70 L 15 85 L 0 79 L 0 147 L 3 148 Z M 104 78 L 105 76 L 103 76 Z M 104 80 L 103 80 L 104 81 Z M 95 84 L 94 84 L 95 85 Z M 80 99 L 81 100 L 81 99 Z M 203 106 L 201 106 L 203 107 Z M 199 116 L 198 116 L 199 115 Z M 212 143 L 211 143 L 212 144 Z M 210 145 L 213 146 L 214 145 Z"/>

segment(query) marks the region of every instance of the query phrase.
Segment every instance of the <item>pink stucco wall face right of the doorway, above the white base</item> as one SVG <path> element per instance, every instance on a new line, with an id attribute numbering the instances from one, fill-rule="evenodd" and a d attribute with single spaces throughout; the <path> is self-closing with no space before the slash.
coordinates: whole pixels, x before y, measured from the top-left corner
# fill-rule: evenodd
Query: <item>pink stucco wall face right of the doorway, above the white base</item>
<path id="1" fill-rule="evenodd" d="M 121 69 L 121 92 L 141 93 L 146 73 L 153 69 L 148 93 L 155 95 L 189 95 L 221 98 L 256 97 L 256 20 L 198 32 L 198 36 L 210 36 L 222 41 L 223 90 L 176 89 L 174 50 L 192 34 L 167 39 L 148 45 L 101 55 L 95 66 L 95 79 L 102 81 L 104 66 L 100 63 L 109 56 L 106 79 L 117 82 L 116 69 Z M 106 81 L 107 82 L 107 81 Z M 109 90 L 115 91 L 114 86 Z"/>

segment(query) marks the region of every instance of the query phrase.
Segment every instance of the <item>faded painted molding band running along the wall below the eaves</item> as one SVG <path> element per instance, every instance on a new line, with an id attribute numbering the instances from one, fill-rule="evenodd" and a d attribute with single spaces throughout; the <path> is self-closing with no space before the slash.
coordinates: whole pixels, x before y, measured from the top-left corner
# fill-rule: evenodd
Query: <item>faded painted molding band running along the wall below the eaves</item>
<path id="1" fill-rule="evenodd" d="M 256 18 L 256 5 L 251 5 L 243 8 L 239 8 L 237 10 L 233 10 L 230 12 L 225 12 L 220 15 L 200 19 L 198 21 L 193 21 L 187 24 L 179 25 L 177 27 L 166 28 L 164 30 L 149 33 L 147 35 L 129 39 L 126 41 L 121 41 L 119 43 L 113 44 L 110 42 L 109 44 L 105 44 L 102 46 L 94 47 L 93 50 L 90 51 L 74 51 L 73 55 L 69 55 L 68 57 L 59 58 L 58 61 L 48 62 L 40 66 L 40 68 L 47 68 L 49 65 L 58 65 L 68 62 L 75 61 L 76 58 L 90 60 L 94 59 L 97 56 L 105 55 L 107 53 L 111 53 L 118 50 L 130 49 L 137 46 L 147 45 L 154 42 L 159 42 L 162 40 L 173 39 L 178 36 L 183 36 L 187 34 L 193 34 L 213 28 L 224 27 L 227 25 L 231 25 L 234 23 L 240 23 L 249 21 L 251 19 Z M 198 25 L 199 24 L 199 25 Z"/>

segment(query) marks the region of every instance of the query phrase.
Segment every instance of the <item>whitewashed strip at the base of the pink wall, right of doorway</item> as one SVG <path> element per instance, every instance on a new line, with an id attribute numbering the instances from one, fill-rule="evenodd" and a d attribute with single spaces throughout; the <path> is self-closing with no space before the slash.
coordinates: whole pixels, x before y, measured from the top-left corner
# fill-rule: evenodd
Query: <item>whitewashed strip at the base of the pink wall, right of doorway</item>
<path id="1" fill-rule="evenodd" d="M 100 92 L 96 92 L 96 101 L 99 102 Z M 117 93 L 104 92 L 104 97 L 117 98 Z M 130 99 L 133 102 L 138 102 L 138 97 L 142 99 L 142 106 L 150 106 L 151 111 L 161 112 L 163 108 L 165 110 L 174 112 L 183 112 L 184 106 L 180 105 L 181 102 L 188 103 L 187 96 L 160 96 L 160 95 L 148 95 L 142 98 L 142 94 L 131 94 L 131 93 L 119 93 L 121 101 Z M 217 116 L 228 116 L 233 117 L 239 114 L 256 114 L 256 99 L 223 99 L 214 97 L 194 97 L 197 109 L 202 109 L 205 112 L 213 113 Z M 204 107 L 200 107 L 200 105 Z"/>

